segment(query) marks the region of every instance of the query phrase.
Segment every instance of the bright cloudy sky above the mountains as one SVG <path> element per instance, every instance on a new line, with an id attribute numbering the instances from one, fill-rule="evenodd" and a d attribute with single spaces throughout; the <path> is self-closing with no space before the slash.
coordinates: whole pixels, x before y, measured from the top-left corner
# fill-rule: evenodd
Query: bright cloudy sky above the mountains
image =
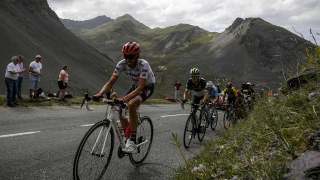
<path id="1" fill-rule="evenodd" d="M 260 17 L 320 44 L 320 0 L 48 0 L 60 18 L 87 20 L 99 15 L 116 19 L 126 13 L 151 28 L 179 23 L 222 32 L 237 18 Z M 313 41 L 314 42 L 314 41 Z"/>

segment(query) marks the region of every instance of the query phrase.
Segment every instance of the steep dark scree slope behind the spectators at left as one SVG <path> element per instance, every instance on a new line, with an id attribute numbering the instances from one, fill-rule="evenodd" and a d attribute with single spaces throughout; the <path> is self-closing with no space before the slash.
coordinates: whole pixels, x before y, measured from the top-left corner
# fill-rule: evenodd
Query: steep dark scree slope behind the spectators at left
<path id="1" fill-rule="evenodd" d="M 66 29 L 46 0 L 0 1 L 0 12 L 0 69 L 3 74 L 11 63 L 11 56 L 24 55 L 24 66 L 28 68 L 40 54 L 44 70 L 40 87 L 57 92 L 59 72 L 67 64 L 71 79 L 67 92 L 76 93 L 99 91 L 113 72 L 115 63 Z M 24 94 L 28 94 L 28 79 L 26 72 L 22 84 Z M 118 83 L 122 84 L 125 83 Z M 124 91 L 121 87 L 118 89 Z M 4 82 L 0 94 L 6 94 Z"/>

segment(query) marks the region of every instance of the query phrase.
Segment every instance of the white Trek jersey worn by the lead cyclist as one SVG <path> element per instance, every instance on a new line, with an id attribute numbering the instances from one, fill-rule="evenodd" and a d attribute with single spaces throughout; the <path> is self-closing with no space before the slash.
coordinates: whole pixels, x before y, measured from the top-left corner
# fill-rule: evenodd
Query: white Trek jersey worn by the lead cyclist
<path id="1" fill-rule="evenodd" d="M 146 79 L 145 86 L 156 82 L 149 63 L 144 59 L 138 59 L 137 66 L 134 69 L 131 69 L 127 66 L 125 59 L 119 61 L 112 76 L 119 77 L 122 71 L 124 71 L 132 79 L 132 83 L 137 87 L 140 78 Z"/>

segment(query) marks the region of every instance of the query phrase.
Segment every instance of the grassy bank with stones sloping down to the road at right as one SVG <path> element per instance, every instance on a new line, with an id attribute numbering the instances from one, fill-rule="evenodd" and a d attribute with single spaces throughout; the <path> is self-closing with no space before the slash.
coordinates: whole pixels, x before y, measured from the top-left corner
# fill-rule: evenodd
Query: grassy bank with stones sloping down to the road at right
<path id="1" fill-rule="evenodd" d="M 309 61 L 317 70 L 319 55 L 315 61 Z M 284 179 L 292 160 L 312 149 L 308 136 L 320 123 L 320 98 L 310 101 L 308 94 L 319 91 L 319 82 L 317 75 L 297 91 L 279 94 L 271 101 L 259 101 L 249 118 L 208 143 L 173 178 Z M 177 139 L 174 142 L 177 144 Z M 192 172 L 194 167 L 201 168 Z"/>

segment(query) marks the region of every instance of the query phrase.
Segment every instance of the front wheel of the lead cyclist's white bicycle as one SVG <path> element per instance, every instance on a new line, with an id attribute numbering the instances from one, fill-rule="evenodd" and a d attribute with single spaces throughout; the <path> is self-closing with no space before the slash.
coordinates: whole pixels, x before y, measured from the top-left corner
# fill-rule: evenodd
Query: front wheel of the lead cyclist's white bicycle
<path id="1" fill-rule="evenodd" d="M 101 179 L 107 170 L 114 146 L 113 129 L 107 134 L 109 126 L 109 121 L 100 121 L 84 135 L 73 163 L 74 180 Z"/>

